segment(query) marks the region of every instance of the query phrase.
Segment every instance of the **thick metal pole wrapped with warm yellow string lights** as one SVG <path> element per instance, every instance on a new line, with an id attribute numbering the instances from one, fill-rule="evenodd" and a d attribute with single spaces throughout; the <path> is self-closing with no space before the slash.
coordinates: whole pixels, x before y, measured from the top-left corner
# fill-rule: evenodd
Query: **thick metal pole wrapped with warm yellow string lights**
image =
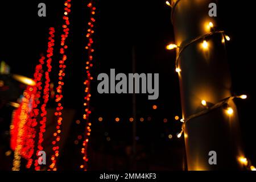
<path id="1" fill-rule="evenodd" d="M 183 47 L 217 27 L 216 17 L 208 15 L 209 4 L 216 1 L 175 2 L 172 23 L 178 46 Z M 209 26 L 210 22 L 214 27 Z M 224 34 L 213 34 L 189 44 L 180 53 L 177 63 L 181 70 L 178 74 L 184 119 L 207 109 L 201 104 L 203 100 L 212 106 L 232 96 Z M 184 124 L 188 170 L 241 169 L 238 158 L 243 153 L 237 109 L 232 100 L 228 104 L 233 109 L 232 114 L 221 106 Z M 216 152 L 217 164 L 209 163 L 210 151 Z"/>

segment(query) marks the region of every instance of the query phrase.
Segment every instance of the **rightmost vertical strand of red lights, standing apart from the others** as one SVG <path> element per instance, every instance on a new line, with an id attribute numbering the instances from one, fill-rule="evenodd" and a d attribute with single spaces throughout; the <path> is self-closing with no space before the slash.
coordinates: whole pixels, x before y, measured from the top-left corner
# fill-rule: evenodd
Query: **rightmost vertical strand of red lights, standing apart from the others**
<path id="1" fill-rule="evenodd" d="M 92 48 L 93 46 L 93 23 L 95 22 L 95 19 L 93 16 L 95 15 L 95 10 L 96 7 L 93 6 L 92 1 L 87 5 L 90 9 L 90 19 L 88 22 L 88 30 L 86 34 L 86 39 L 88 40 L 88 44 L 85 47 L 86 50 L 88 50 L 88 60 L 86 61 L 86 80 L 84 81 L 85 85 L 85 97 L 84 97 L 84 106 L 85 106 L 85 113 L 83 115 L 83 119 L 85 120 L 85 138 L 84 142 L 82 143 L 82 149 L 81 153 L 83 155 L 82 159 L 84 160 L 84 164 L 80 166 L 81 169 L 84 169 L 84 171 L 87 170 L 87 162 L 88 162 L 88 155 L 87 155 L 87 149 L 88 149 L 88 142 L 89 142 L 89 136 L 90 136 L 90 131 L 91 131 L 91 125 L 92 123 L 89 122 L 89 115 L 91 111 L 89 110 L 89 103 L 90 103 L 90 81 L 93 80 L 93 77 L 90 74 L 90 68 L 93 66 L 92 61 L 93 61 L 93 52 L 94 49 Z"/>

